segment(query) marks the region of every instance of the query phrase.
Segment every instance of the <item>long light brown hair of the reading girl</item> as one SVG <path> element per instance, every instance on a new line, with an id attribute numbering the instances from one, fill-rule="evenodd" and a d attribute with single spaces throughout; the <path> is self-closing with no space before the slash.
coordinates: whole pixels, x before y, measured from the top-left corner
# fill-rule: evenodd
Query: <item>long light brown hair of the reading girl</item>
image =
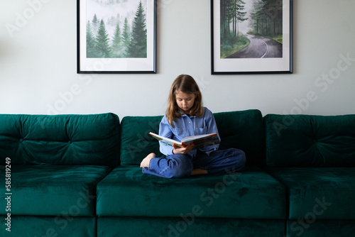
<path id="1" fill-rule="evenodd" d="M 176 118 L 181 117 L 180 108 L 178 107 L 178 104 L 176 104 L 177 92 L 195 94 L 195 103 L 187 114 L 190 114 L 190 116 L 203 115 L 202 94 L 200 92 L 200 88 L 195 82 L 195 79 L 193 79 L 190 75 L 179 75 L 171 85 L 168 97 L 168 108 L 165 113 L 165 116 L 168 118 L 168 122 L 171 126 L 173 126 L 173 121 L 176 122 Z"/>

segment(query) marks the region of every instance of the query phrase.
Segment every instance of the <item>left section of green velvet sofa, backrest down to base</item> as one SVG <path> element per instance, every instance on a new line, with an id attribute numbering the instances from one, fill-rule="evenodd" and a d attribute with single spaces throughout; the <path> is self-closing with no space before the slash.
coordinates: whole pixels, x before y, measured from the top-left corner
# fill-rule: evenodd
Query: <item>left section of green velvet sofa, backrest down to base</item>
<path id="1" fill-rule="evenodd" d="M 114 114 L 0 115 L 0 236 L 97 236 L 97 184 L 119 142 Z"/>

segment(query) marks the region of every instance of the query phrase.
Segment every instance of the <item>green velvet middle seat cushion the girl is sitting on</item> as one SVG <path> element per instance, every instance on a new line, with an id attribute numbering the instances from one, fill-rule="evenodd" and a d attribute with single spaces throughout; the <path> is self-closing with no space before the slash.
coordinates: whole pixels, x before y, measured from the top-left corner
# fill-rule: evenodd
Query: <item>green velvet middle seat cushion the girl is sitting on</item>
<path id="1" fill-rule="evenodd" d="M 97 185 L 98 216 L 285 219 L 285 187 L 258 167 L 165 179 L 116 167 Z"/>

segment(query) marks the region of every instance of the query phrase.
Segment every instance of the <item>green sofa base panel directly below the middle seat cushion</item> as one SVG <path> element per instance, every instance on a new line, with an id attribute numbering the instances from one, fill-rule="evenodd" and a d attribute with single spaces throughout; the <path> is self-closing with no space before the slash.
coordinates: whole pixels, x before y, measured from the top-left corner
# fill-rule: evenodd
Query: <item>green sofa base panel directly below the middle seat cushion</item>
<path id="1" fill-rule="evenodd" d="M 177 218 L 99 217 L 97 237 L 236 237 L 285 236 L 285 221 L 275 219 L 212 219 L 198 216 Z"/>

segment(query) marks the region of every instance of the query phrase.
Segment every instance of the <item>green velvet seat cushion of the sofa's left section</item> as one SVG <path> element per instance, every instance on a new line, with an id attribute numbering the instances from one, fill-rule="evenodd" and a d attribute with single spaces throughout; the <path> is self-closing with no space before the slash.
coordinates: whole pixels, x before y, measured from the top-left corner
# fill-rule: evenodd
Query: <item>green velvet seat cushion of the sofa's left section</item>
<path id="1" fill-rule="evenodd" d="M 6 215 L 5 198 L 11 196 L 11 215 L 94 216 L 96 185 L 110 170 L 99 165 L 11 166 L 11 194 L 1 185 L 0 214 Z"/>

